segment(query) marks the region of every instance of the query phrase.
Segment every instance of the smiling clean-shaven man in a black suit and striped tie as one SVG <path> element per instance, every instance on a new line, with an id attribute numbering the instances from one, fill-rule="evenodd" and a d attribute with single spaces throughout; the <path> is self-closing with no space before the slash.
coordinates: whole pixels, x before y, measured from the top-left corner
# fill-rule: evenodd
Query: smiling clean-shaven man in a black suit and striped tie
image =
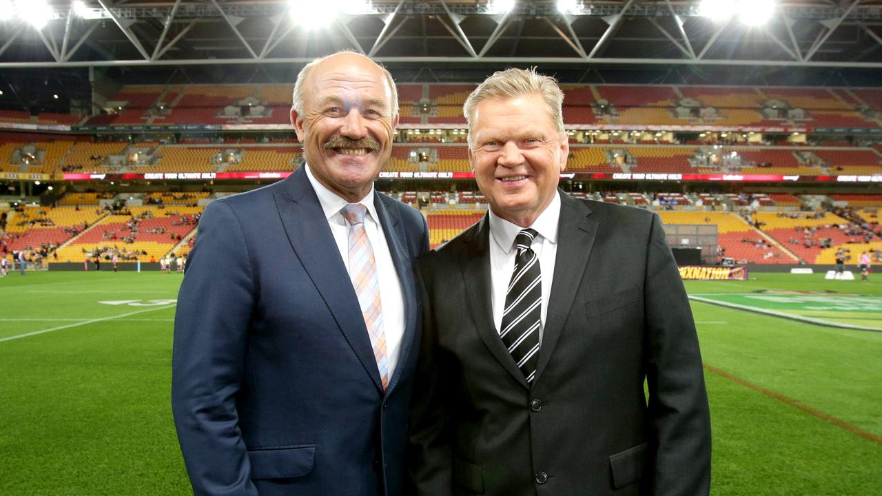
<path id="1" fill-rule="evenodd" d="M 511 69 L 466 102 L 490 212 L 418 265 L 419 496 L 709 491 L 699 344 L 662 223 L 557 189 L 563 98 Z"/>

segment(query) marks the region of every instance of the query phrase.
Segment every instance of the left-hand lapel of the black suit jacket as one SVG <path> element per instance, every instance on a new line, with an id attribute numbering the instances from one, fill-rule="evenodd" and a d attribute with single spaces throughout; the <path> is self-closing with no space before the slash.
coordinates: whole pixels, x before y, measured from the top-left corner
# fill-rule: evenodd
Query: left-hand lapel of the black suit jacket
<path id="1" fill-rule="evenodd" d="M 460 257 L 460 269 L 475 329 L 499 364 L 523 387 L 529 387 L 523 372 L 514 363 L 508 349 L 505 349 L 493 323 L 493 306 L 490 302 L 493 294 L 490 277 L 490 217 L 485 214 L 463 241 L 467 244 L 467 253 Z"/>

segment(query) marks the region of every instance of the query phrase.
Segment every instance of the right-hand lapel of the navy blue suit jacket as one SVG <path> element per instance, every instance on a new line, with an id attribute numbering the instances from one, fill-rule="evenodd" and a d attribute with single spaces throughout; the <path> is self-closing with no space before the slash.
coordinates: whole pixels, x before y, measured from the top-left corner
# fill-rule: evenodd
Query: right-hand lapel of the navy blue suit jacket
<path id="1" fill-rule="evenodd" d="M 410 355 L 410 348 L 414 342 L 414 334 L 416 334 L 416 289 L 414 282 L 414 271 L 411 268 L 410 256 L 407 252 L 407 233 L 404 230 L 404 224 L 401 222 L 401 215 L 393 203 L 385 195 L 374 192 L 374 207 L 377 207 L 377 216 L 379 216 L 380 225 L 383 226 L 383 234 L 385 235 L 386 244 L 389 245 L 389 252 L 392 254 L 392 262 L 395 264 L 395 270 L 398 272 L 398 279 L 401 282 L 401 294 L 404 297 L 404 336 L 401 339 L 401 354 L 398 360 L 398 366 L 395 372 L 389 378 L 389 387 L 386 395 L 392 393 L 392 389 L 398 384 L 398 380 L 402 371 L 406 368 L 407 357 Z"/>

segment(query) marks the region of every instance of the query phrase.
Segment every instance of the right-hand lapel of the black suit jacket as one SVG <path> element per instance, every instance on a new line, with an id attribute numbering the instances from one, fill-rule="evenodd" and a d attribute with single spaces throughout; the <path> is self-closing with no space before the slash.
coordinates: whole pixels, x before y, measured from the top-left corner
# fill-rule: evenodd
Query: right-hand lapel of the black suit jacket
<path id="1" fill-rule="evenodd" d="M 572 301 L 585 274 L 597 233 L 598 223 L 588 218 L 591 209 L 587 205 L 564 192 L 560 192 L 560 199 L 554 278 L 551 282 L 545 327 L 542 328 L 542 348 L 539 349 L 534 384 L 542 379 L 542 372 L 549 364 L 564 323 L 572 312 Z"/>

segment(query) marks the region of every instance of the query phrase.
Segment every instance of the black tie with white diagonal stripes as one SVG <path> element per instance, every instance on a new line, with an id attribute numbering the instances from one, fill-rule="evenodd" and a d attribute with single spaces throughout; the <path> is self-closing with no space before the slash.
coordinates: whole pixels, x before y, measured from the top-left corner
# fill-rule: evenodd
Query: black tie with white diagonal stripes
<path id="1" fill-rule="evenodd" d="M 514 238 L 512 281 L 505 291 L 505 310 L 499 337 L 512 354 L 527 383 L 533 382 L 539 359 L 539 327 L 542 325 L 542 271 L 539 257 L 530 249 L 536 237 L 534 229 L 523 229 Z"/>

